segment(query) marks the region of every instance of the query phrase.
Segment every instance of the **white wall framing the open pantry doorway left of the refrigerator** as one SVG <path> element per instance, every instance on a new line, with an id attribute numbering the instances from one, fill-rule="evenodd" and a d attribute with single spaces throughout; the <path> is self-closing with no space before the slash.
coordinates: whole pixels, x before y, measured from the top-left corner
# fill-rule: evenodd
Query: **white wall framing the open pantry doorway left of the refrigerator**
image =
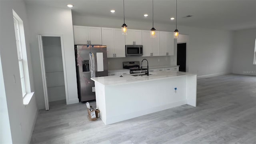
<path id="1" fill-rule="evenodd" d="M 26 5 L 30 26 L 30 47 L 34 72 L 36 100 L 38 108 L 43 109 L 44 93 L 39 59 L 38 34 L 55 34 L 63 36 L 66 75 L 68 83 L 67 104 L 77 103 L 76 67 L 74 54 L 74 36 L 70 9 L 54 8 L 41 5 Z"/>

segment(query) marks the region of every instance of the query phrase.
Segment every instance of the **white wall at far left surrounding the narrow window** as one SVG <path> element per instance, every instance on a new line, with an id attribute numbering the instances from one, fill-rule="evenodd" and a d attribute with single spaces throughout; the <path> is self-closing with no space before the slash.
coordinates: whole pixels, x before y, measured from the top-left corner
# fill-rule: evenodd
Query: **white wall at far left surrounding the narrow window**
<path id="1" fill-rule="evenodd" d="M 10 132 L 12 136 L 12 143 L 21 144 L 28 143 L 30 141 L 38 108 L 36 106 L 36 99 L 34 96 L 30 100 L 30 103 L 28 105 L 23 105 L 12 9 L 23 20 L 29 67 L 28 71 L 31 84 L 30 88 L 32 91 L 34 91 L 34 86 L 32 78 L 33 73 L 31 70 L 28 21 L 25 3 L 22 0 L 0 0 L 0 54 L 2 62 L 2 73 L 4 78 L 6 104 L 10 121 Z M 16 82 L 14 80 L 14 76 L 16 77 Z M 4 98 L 2 99 L 1 90 L 1 111 L 2 100 L 4 102 Z M 4 110 L 6 110 L 6 108 Z M 5 116 L 7 116 L 6 113 Z M 5 122 L 8 123 L 7 120 Z M 6 130 L 6 135 L 4 135 L 7 136 L 6 142 L 10 142 L 8 125 L 3 128 L 4 131 Z"/>

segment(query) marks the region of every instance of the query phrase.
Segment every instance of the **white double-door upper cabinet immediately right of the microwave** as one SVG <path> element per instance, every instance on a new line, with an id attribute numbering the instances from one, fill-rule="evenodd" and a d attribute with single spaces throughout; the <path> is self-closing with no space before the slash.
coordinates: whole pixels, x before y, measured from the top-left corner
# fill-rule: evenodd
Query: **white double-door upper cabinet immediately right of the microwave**
<path id="1" fill-rule="evenodd" d="M 150 37 L 150 30 L 142 30 L 143 56 L 159 56 L 160 36 L 156 31 L 156 38 Z"/>

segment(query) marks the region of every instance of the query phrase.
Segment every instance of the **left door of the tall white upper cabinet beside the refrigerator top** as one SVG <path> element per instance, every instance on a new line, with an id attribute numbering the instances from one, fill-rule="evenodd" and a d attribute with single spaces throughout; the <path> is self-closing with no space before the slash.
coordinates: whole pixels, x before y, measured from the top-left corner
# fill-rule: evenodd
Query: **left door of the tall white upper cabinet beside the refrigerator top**
<path id="1" fill-rule="evenodd" d="M 114 29 L 102 28 L 102 45 L 107 46 L 108 58 L 114 57 Z"/>

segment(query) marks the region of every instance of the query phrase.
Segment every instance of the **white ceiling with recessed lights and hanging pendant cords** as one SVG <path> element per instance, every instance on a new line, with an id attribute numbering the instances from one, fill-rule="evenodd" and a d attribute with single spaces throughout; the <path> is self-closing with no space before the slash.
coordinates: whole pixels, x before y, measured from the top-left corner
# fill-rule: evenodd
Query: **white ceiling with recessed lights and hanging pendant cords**
<path id="1" fill-rule="evenodd" d="M 122 0 L 26 0 L 68 8 L 73 15 L 123 18 Z M 124 0 L 125 18 L 152 22 L 152 0 Z M 110 10 L 116 10 L 111 13 Z M 143 15 L 148 14 L 145 18 Z M 154 0 L 154 22 L 175 24 L 176 0 Z M 190 18 L 184 18 L 192 15 Z M 178 0 L 178 25 L 212 29 L 240 30 L 256 28 L 256 0 Z"/>

